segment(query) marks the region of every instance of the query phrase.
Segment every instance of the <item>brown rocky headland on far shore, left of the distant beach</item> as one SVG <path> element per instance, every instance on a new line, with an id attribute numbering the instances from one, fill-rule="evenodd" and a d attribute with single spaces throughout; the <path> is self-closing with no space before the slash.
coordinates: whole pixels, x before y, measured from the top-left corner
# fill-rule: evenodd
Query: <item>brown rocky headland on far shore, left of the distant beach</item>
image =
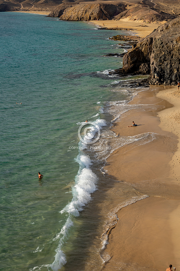
<path id="1" fill-rule="evenodd" d="M 78 5 L 67 6 L 66 9 L 63 10 L 63 14 L 61 14 L 62 10 L 61 4 L 48 16 L 60 17 L 60 20 L 66 21 L 110 20 L 112 17 L 125 10 L 125 6 L 123 4 L 117 6 L 112 4 L 80 3 Z"/>

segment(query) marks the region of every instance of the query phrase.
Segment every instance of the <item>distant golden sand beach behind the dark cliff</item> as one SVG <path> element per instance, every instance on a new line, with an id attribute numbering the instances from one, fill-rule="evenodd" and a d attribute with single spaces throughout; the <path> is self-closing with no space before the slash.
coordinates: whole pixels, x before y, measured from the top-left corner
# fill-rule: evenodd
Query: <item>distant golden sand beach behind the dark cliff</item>
<path id="1" fill-rule="evenodd" d="M 95 25 L 101 27 L 123 27 L 131 28 L 139 37 L 145 38 L 149 35 L 154 29 L 157 29 L 162 23 L 143 23 L 142 21 L 130 21 L 128 19 L 120 19 L 118 21 L 107 20 L 107 21 L 91 21 Z M 104 24 L 104 25 L 103 25 Z"/>

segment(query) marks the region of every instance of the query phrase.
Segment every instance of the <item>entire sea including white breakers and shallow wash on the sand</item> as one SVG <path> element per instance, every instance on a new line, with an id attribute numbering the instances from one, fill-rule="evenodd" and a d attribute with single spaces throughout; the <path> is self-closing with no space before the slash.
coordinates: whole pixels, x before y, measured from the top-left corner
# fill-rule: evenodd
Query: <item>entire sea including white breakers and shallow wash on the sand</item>
<path id="1" fill-rule="evenodd" d="M 148 107 L 128 104 L 143 76 L 109 75 L 122 58 L 103 56 L 126 51 L 109 37 L 129 33 L 20 12 L 1 13 L 0 27 L 0 270 L 101 270 L 115 216 L 103 204 L 106 159 L 155 138 L 110 130 L 123 112 Z M 146 195 L 122 184 L 118 197 L 123 207 Z"/>

